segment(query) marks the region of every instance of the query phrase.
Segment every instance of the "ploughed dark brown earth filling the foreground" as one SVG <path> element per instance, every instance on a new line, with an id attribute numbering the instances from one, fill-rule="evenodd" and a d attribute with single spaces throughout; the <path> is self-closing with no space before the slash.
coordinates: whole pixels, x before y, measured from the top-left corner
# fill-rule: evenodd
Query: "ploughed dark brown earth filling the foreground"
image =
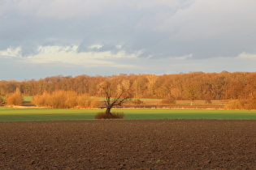
<path id="1" fill-rule="evenodd" d="M 0 169 L 256 169 L 256 121 L 0 122 Z"/>

